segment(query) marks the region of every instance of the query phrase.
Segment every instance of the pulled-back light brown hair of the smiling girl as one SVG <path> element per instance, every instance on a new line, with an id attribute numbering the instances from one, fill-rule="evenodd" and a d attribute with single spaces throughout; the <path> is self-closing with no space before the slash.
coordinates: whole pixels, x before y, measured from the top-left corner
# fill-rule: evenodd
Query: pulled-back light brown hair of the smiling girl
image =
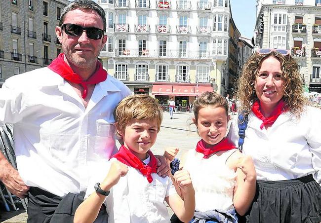
<path id="1" fill-rule="evenodd" d="M 229 105 L 227 103 L 226 98 L 224 98 L 223 96 L 215 92 L 206 91 L 202 93 L 193 103 L 194 116 L 195 116 L 196 122 L 199 118 L 200 109 L 207 106 L 213 106 L 215 108 L 221 107 L 225 109 L 226 115 L 227 116 L 229 115 Z"/>

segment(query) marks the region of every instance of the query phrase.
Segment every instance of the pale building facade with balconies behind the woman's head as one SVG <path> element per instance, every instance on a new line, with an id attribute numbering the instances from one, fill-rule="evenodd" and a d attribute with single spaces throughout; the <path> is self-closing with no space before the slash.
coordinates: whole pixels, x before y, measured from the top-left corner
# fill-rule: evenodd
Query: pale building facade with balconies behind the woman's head
<path id="1" fill-rule="evenodd" d="M 257 0 L 255 49 L 291 51 L 309 91 L 321 92 L 321 0 Z"/>

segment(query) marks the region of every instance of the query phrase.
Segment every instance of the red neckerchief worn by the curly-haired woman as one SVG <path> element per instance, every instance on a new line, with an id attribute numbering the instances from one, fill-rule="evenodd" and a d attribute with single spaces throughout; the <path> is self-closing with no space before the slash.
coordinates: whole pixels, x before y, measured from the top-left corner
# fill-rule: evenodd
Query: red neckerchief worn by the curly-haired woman
<path id="1" fill-rule="evenodd" d="M 261 119 L 263 121 L 260 126 L 261 129 L 263 129 L 264 126 L 273 125 L 273 123 L 277 120 L 279 115 L 286 110 L 287 109 L 286 109 L 284 101 L 282 99 L 280 100 L 277 107 L 272 111 L 270 117 L 267 117 L 267 118 L 264 117 L 263 114 L 261 113 L 260 103 L 258 100 L 256 102 L 254 102 L 254 104 L 252 106 L 253 113 L 256 115 L 256 117 L 258 117 L 259 119 Z"/>

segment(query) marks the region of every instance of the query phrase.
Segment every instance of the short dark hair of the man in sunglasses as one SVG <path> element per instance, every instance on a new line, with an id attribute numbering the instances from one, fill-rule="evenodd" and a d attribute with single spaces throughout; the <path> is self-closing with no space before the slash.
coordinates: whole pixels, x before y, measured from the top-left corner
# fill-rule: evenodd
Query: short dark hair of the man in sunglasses
<path id="1" fill-rule="evenodd" d="M 61 27 L 64 24 L 64 18 L 67 12 L 75 10 L 75 9 L 91 9 L 94 10 L 95 12 L 100 15 L 101 19 L 103 20 L 104 23 L 104 32 L 106 33 L 106 15 L 105 11 L 102 7 L 100 7 L 99 4 L 92 0 L 74 0 L 68 4 L 61 13 L 60 16 L 60 21 L 59 21 L 59 26 Z"/>

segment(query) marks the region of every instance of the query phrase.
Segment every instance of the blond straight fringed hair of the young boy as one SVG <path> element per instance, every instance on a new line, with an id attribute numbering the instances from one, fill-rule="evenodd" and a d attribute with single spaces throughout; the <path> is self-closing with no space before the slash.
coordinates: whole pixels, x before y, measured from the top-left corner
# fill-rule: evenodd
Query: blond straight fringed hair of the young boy
<path id="1" fill-rule="evenodd" d="M 114 118 L 120 132 L 132 120 L 156 120 L 157 131 L 160 131 L 162 109 L 155 98 L 149 95 L 130 95 L 122 99 L 114 111 Z"/>

